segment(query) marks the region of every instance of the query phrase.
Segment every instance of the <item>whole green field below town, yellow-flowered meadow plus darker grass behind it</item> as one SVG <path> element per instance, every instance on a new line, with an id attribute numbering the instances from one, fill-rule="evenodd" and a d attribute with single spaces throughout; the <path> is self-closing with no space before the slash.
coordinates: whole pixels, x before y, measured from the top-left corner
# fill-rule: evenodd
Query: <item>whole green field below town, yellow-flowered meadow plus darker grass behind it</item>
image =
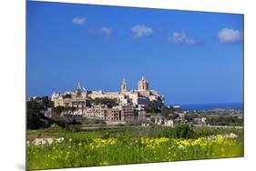
<path id="1" fill-rule="evenodd" d="M 239 137 L 224 136 L 230 133 Z M 235 128 L 124 126 L 27 132 L 30 142 L 36 137 L 65 137 L 65 141 L 44 146 L 30 143 L 26 148 L 29 170 L 243 156 L 243 130 Z"/>

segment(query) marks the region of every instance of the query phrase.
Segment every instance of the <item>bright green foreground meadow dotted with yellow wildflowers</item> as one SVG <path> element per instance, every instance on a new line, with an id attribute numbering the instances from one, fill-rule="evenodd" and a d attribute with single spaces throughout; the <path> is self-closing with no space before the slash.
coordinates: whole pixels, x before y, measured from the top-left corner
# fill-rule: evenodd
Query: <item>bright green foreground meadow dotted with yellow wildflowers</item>
<path id="1" fill-rule="evenodd" d="M 109 166 L 243 156 L 241 138 L 106 136 L 72 133 L 63 142 L 27 145 L 27 169 Z M 90 133 L 91 134 L 91 133 Z M 71 135 L 71 134 L 70 134 Z M 80 135 L 79 138 L 77 138 Z"/>

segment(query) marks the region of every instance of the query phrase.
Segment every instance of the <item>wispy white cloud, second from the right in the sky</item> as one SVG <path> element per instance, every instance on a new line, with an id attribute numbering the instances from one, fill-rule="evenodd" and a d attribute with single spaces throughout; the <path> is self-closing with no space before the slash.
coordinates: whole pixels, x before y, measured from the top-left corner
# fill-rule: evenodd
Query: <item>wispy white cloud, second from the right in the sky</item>
<path id="1" fill-rule="evenodd" d="M 200 43 L 194 38 L 189 37 L 185 32 L 174 32 L 168 37 L 168 40 L 171 44 L 196 45 Z"/>

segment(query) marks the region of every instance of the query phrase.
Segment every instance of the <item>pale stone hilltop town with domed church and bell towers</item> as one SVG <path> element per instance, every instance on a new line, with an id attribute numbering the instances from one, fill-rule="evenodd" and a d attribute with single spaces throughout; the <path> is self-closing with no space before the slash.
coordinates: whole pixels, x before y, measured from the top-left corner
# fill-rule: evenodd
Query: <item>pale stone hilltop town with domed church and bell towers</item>
<path id="1" fill-rule="evenodd" d="M 164 104 L 164 96 L 149 90 L 148 80 L 142 76 L 138 90 L 128 90 L 123 79 L 119 92 L 86 91 L 78 83 L 76 91 L 51 96 L 54 106 L 70 108 L 62 115 L 86 116 L 112 121 L 144 119 L 146 106 L 154 103 L 156 107 Z M 73 110 L 72 110 L 73 108 Z"/>

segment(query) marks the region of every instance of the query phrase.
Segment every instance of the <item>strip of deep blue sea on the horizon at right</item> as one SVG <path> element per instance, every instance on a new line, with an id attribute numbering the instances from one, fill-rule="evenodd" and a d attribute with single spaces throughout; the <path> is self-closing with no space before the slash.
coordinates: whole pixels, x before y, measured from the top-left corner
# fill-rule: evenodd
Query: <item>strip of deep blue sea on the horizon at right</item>
<path id="1" fill-rule="evenodd" d="M 232 109 L 243 109 L 243 103 L 229 103 L 229 104 L 184 104 L 177 105 L 183 110 L 208 110 L 216 108 L 232 108 Z"/>

